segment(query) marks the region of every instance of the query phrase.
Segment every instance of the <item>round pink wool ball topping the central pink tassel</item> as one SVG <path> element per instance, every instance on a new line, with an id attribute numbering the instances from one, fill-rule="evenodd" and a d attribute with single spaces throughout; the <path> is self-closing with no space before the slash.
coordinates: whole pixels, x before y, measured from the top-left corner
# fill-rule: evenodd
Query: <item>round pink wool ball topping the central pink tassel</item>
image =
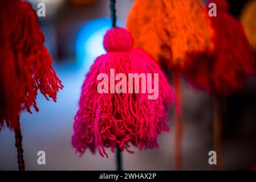
<path id="1" fill-rule="evenodd" d="M 133 39 L 124 28 L 111 28 L 104 36 L 103 46 L 107 52 L 129 52 L 133 47 Z"/>

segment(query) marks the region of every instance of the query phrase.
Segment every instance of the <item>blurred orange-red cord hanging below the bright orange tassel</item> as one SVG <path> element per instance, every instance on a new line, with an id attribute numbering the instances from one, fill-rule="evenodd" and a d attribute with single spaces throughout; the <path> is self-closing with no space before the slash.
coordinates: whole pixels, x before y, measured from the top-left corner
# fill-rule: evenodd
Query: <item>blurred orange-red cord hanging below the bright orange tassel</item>
<path id="1" fill-rule="evenodd" d="M 177 94 L 178 103 L 182 106 L 182 94 L 181 94 L 181 82 L 180 82 L 180 72 L 175 70 L 174 74 L 174 90 Z M 176 112 L 175 121 L 175 131 L 174 134 L 174 167 L 176 171 L 182 170 L 182 118 L 181 114 Z"/>

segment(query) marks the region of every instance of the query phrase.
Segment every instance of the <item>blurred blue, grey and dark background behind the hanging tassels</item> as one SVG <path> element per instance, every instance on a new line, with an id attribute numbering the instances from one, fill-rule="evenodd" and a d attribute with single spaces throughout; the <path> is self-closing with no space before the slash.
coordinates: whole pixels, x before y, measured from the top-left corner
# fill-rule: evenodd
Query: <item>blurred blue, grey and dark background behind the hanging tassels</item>
<path id="1" fill-rule="evenodd" d="M 24 158 L 27 170 L 114 170 L 115 154 L 109 158 L 87 151 L 81 158 L 71 146 L 73 122 L 84 77 L 95 58 L 102 53 L 103 35 L 111 26 L 106 0 L 31 0 L 35 10 L 45 3 L 46 16 L 39 17 L 46 37 L 45 45 L 64 89 L 58 101 L 38 96 L 39 112 L 21 115 Z M 230 11 L 239 17 L 246 1 L 229 1 Z M 133 0 L 117 0 L 117 25 L 125 26 Z M 171 81 L 171 80 L 170 80 Z M 192 89 L 182 81 L 183 94 L 183 168 L 212 170 L 208 152 L 213 150 L 212 97 Z M 256 164 L 256 80 L 250 78 L 245 91 L 226 98 L 224 115 L 224 169 L 249 169 Z M 170 111 L 170 115 L 172 111 Z M 170 132 L 160 135 L 158 150 L 132 148 L 123 152 L 125 170 L 173 170 L 173 119 Z M 14 131 L 0 132 L 0 169 L 16 170 Z M 46 165 L 37 163 L 38 151 L 46 152 Z"/>

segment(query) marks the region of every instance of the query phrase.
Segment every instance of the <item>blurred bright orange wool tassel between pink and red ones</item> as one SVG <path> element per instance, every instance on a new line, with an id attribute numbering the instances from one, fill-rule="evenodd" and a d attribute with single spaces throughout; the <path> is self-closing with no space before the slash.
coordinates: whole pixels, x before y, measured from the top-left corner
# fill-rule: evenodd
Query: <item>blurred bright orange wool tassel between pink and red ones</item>
<path id="1" fill-rule="evenodd" d="M 127 27 L 135 46 L 170 68 L 182 68 L 187 52 L 213 47 L 213 30 L 201 0 L 136 0 Z"/>

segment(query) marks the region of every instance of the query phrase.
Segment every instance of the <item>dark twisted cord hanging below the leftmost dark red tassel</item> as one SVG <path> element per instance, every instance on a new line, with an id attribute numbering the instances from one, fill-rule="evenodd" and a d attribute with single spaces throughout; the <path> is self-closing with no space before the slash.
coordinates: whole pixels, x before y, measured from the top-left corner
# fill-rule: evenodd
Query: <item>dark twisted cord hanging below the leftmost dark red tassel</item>
<path id="1" fill-rule="evenodd" d="M 25 162 L 23 159 L 23 148 L 22 148 L 22 135 L 21 135 L 21 126 L 19 124 L 19 117 L 18 117 L 18 125 L 17 128 L 14 129 L 15 132 L 15 147 L 17 148 L 17 156 L 18 156 L 18 164 L 19 164 L 19 171 L 25 171 Z"/>

